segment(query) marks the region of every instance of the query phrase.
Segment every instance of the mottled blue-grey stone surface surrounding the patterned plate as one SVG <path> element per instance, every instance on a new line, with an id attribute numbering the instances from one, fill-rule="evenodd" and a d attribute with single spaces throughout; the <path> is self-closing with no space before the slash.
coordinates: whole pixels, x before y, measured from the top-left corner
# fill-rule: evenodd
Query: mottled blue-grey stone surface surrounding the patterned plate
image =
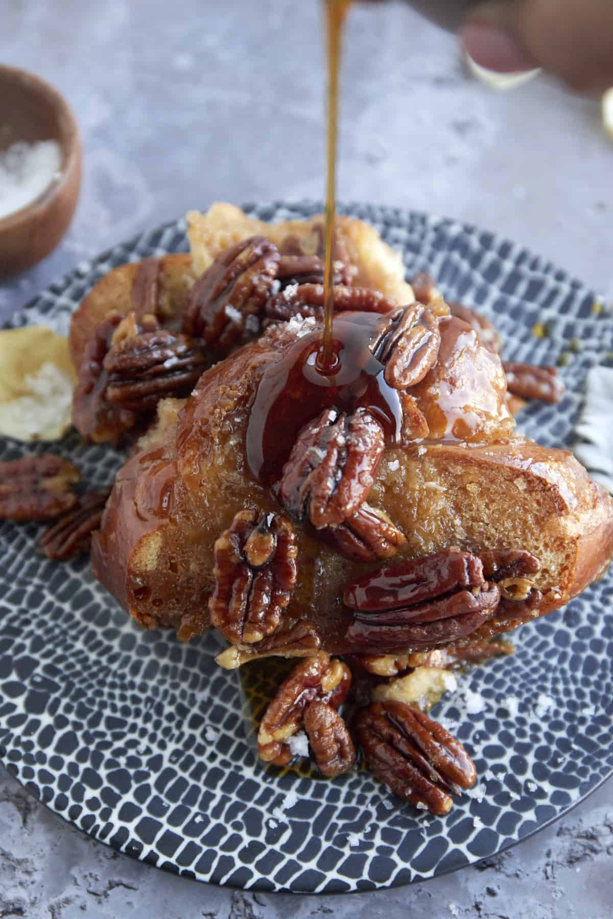
<path id="1" fill-rule="evenodd" d="M 0 284 L 0 318 L 80 261 L 187 208 L 321 198 L 320 46 L 317 0 L 5 0 L 0 61 L 70 99 L 85 177 L 61 247 Z M 454 40 L 402 4 L 353 13 L 345 90 L 341 199 L 472 221 L 613 297 L 613 145 L 595 102 L 544 79 L 502 96 L 484 90 Z M 0 919 L 606 919 L 611 856 L 608 783 L 507 854 L 411 889 L 327 901 L 219 891 L 93 843 L 0 773 Z"/>

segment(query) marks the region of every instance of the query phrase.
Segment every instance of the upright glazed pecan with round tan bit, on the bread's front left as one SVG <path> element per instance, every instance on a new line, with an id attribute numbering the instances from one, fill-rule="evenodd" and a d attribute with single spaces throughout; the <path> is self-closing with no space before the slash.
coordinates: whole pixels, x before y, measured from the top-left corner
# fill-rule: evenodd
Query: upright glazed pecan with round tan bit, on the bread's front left
<path id="1" fill-rule="evenodd" d="M 278 629 L 296 585 L 296 535 L 278 514 L 239 511 L 215 542 L 210 620 L 233 644 L 261 641 Z"/>

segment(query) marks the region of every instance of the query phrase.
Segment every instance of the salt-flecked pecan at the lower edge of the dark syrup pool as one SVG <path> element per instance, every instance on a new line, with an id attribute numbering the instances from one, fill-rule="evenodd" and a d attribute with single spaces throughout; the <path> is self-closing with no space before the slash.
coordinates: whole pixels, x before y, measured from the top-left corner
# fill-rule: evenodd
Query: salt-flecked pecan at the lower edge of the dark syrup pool
<path id="1" fill-rule="evenodd" d="M 302 428 L 285 464 L 283 504 L 315 528 L 338 526 L 368 497 L 384 446 L 381 426 L 366 409 L 351 415 L 324 409 Z"/>

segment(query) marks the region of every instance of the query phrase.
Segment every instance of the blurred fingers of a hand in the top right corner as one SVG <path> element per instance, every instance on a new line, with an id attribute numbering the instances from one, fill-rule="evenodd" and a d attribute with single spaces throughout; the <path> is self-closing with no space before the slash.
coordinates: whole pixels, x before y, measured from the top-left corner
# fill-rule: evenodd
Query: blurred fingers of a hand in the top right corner
<path id="1" fill-rule="evenodd" d="M 498 73 L 542 67 L 584 93 L 613 85 L 612 0 L 486 0 L 471 8 L 460 40 Z"/>

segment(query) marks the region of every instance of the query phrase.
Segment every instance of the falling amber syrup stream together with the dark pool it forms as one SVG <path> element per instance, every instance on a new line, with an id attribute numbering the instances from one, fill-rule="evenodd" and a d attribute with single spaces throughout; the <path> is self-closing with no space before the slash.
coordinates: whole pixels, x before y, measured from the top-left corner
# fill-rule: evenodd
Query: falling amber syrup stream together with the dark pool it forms
<path id="1" fill-rule="evenodd" d="M 401 439 L 398 391 L 383 377 L 369 349 L 380 315 L 340 313 L 335 318 L 335 176 L 338 87 L 343 28 L 352 0 L 324 0 L 327 27 L 327 184 L 324 225 L 324 328 L 299 339 L 260 380 L 246 436 L 249 468 L 259 482 L 278 481 L 303 425 L 334 406 L 369 409 L 388 444 Z"/>

